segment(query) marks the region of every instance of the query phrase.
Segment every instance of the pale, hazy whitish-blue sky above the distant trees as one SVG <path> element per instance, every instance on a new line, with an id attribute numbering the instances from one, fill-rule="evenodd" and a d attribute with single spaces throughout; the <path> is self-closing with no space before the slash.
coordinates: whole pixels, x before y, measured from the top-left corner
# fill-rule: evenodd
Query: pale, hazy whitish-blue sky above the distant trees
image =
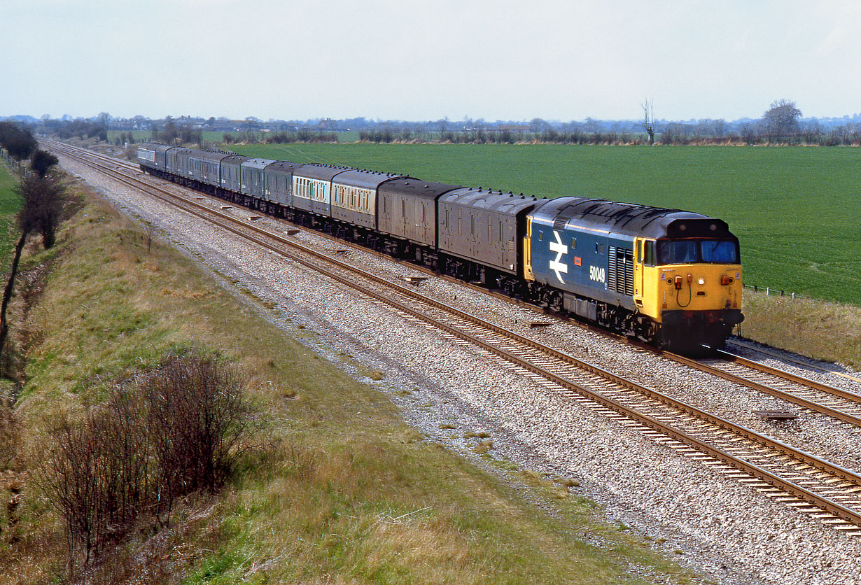
<path id="1" fill-rule="evenodd" d="M 861 112 L 858 0 L 0 0 L 0 116 Z"/>

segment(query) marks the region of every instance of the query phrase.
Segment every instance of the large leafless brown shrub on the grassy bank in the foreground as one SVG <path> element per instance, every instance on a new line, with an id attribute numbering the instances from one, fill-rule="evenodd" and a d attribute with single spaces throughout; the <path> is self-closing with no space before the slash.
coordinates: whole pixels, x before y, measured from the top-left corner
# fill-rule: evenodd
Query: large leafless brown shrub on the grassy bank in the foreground
<path id="1" fill-rule="evenodd" d="M 243 387 L 231 366 L 174 357 L 79 420 L 59 418 L 34 475 L 65 521 L 70 571 L 136 522 L 169 523 L 177 497 L 226 481 L 251 429 Z"/>

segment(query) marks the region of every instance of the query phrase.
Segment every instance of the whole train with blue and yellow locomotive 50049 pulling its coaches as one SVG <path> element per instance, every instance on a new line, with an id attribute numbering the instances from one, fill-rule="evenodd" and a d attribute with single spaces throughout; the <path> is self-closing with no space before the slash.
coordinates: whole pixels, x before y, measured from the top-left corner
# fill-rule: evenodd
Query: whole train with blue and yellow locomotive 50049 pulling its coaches
<path id="1" fill-rule="evenodd" d="M 140 168 L 679 354 L 722 348 L 741 312 L 722 219 L 589 197 L 144 143 Z"/>

